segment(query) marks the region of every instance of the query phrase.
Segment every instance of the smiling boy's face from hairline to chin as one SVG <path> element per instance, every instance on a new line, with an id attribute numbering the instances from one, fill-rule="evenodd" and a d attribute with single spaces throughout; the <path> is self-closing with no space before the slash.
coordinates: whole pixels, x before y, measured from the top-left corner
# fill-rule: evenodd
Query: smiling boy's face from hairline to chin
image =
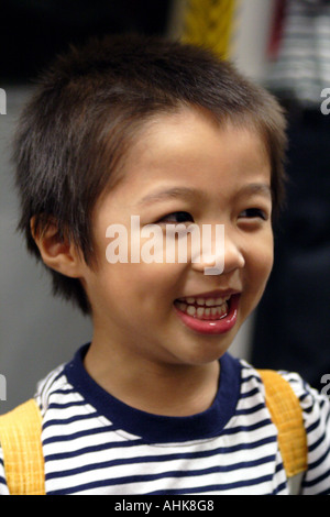
<path id="1" fill-rule="evenodd" d="M 257 305 L 271 273 L 270 184 L 268 157 L 261 138 L 250 130 L 230 124 L 219 129 L 193 109 L 147 123 L 125 161 L 123 178 L 95 209 L 99 265 L 82 273 L 94 341 L 120 350 L 128 365 L 141 360 L 170 365 L 218 360 Z M 211 224 L 213 235 L 216 224 L 223 224 L 223 272 L 205 274 L 210 264 L 189 258 L 169 263 L 165 244 L 162 262 L 140 256 L 132 263 L 132 216 L 139 216 L 141 231 L 160 224 L 164 243 L 165 224 Z M 128 231 L 128 249 L 118 249 L 122 256 L 128 252 L 128 263 L 107 260 L 114 240 L 106 233 L 112 224 Z M 138 237 L 142 248 L 147 239 L 135 232 Z"/>

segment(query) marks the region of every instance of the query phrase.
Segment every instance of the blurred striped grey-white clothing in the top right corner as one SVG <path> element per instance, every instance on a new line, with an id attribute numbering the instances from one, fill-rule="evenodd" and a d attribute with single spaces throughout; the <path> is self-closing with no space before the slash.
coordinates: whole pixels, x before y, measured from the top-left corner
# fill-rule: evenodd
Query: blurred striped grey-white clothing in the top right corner
<path id="1" fill-rule="evenodd" d="M 329 0 L 287 0 L 278 55 L 266 76 L 275 94 L 319 109 L 330 87 Z"/>

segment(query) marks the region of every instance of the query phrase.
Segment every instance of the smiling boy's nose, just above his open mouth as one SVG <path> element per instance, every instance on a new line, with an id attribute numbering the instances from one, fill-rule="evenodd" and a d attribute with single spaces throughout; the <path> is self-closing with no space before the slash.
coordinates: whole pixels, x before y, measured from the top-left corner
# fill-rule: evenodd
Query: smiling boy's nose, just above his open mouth
<path id="1" fill-rule="evenodd" d="M 211 233 L 204 231 L 200 253 L 191 255 L 191 267 L 206 275 L 228 274 L 243 268 L 244 265 L 240 239 L 234 232 L 226 230 L 224 224 L 216 224 L 216 231 Z"/>

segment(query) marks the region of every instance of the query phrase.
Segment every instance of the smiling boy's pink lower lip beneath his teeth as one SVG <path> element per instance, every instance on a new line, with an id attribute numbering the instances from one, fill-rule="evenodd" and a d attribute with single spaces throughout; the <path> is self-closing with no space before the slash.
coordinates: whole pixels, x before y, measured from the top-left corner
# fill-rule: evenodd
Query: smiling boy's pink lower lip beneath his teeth
<path id="1" fill-rule="evenodd" d="M 177 307 L 175 307 L 176 314 L 183 323 L 189 329 L 200 334 L 223 334 L 229 332 L 235 324 L 238 319 L 240 295 L 233 295 L 229 302 L 229 312 L 227 316 L 219 320 L 201 320 L 194 318 L 194 316 L 186 315 Z"/>

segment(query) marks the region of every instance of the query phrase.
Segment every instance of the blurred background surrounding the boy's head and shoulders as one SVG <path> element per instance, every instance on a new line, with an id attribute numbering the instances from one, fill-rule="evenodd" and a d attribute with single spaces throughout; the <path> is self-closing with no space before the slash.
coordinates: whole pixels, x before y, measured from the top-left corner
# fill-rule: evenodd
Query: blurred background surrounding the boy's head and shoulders
<path id="1" fill-rule="evenodd" d="M 275 226 L 276 266 L 231 352 L 260 367 L 330 373 L 330 87 L 328 0 L 2 0 L 0 19 L 0 414 L 91 338 L 88 319 L 52 297 L 48 275 L 15 231 L 11 139 L 33 80 L 70 43 L 139 32 L 211 46 L 287 109 L 287 208 Z M 3 100 L 3 97 L 2 97 Z M 6 381 L 6 383 L 3 382 Z"/>

